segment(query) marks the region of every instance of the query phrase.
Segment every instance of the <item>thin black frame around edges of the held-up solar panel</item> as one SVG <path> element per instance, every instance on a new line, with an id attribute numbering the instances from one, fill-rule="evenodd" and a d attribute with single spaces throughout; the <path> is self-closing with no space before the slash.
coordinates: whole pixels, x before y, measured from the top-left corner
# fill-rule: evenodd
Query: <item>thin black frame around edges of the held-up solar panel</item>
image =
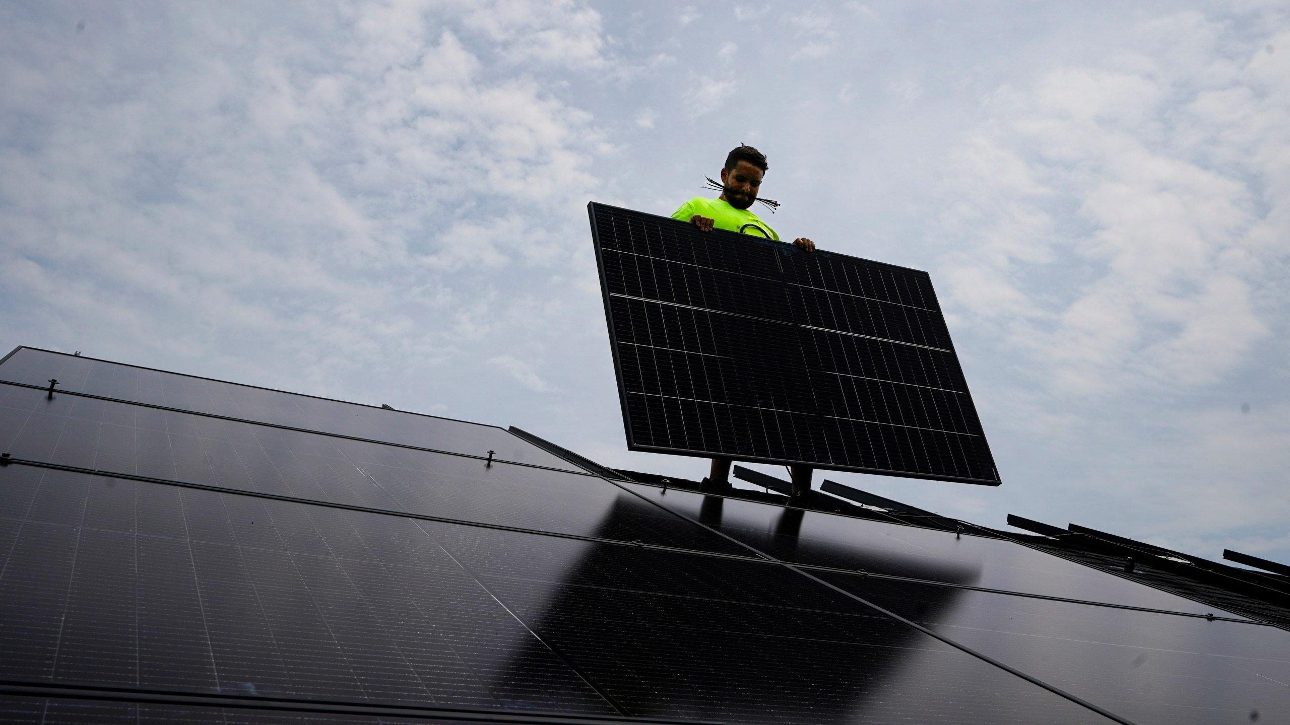
<path id="1" fill-rule="evenodd" d="M 789 464 L 789 466 L 811 466 L 814 468 L 829 470 L 829 471 L 848 471 L 848 472 L 857 472 L 857 473 L 872 473 L 872 475 L 878 475 L 878 476 L 897 476 L 897 477 L 903 477 L 903 479 L 924 479 L 924 480 L 934 480 L 934 481 L 952 481 L 952 482 L 986 485 L 986 486 L 997 486 L 997 485 L 1000 485 L 1002 482 L 1000 480 L 1000 477 L 998 477 L 998 468 L 997 468 L 997 464 L 995 463 L 993 453 L 989 450 L 989 444 L 988 444 L 988 441 L 986 441 L 984 432 L 982 432 L 982 444 L 983 444 L 983 449 L 984 449 L 984 455 L 989 459 L 991 471 L 995 472 L 995 477 L 993 479 L 968 477 L 968 476 L 949 476 L 949 475 L 929 475 L 929 473 L 924 473 L 924 472 L 918 472 L 918 471 L 903 471 L 903 470 L 877 468 L 877 467 L 866 467 L 866 466 L 840 466 L 840 464 L 835 464 L 835 463 L 831 463 L 831 462 L 823 462 L 823 461 L 818 461 L 818 459 L 775 458 L 775 457 L 747 455 L 747 454 L 742 454 L 742 453 L 731 455 L 728 452 L 720 452 L 720 450 L 698 450 L 698 449 L 686 449 L 686 448 L 658 446 L 658 445 L 649 445 L 649 444 L 639 441 L 636 439 L 635 433 L 633 433 L 633 427 L 632 427 L 631 406 L 630 406 L 628 397 L 627 397 L 628 391 L 627 391 L 627 384 L 626 384 L 626 379 L 624 379 L 624 374 L 623 374 L 623 360 L 622 360 L 622 356 L 619 353 L 619 334 L 618 334 L 618 330 L 615 329 L 615 324 L 614 324 L 614 308 L 613 308 L 613 301 L 611 301 L 611 293 L 610 293 L 610 281 L 609 281 L 608 275 L 606 275 L 605 253 L 604 253 L 604 246 L 601 244 L 600 230 L 599 230 L 599 226 L 596 223 L 597 213 L 600 213 L 601 210 L 609 212 L 609 213 L 626 213 L 626 214 L 631 214 L 631 215 L 635 215 L 635 217 L 653 218 L 653 219 L 657 219 L 660 224 L 682 224 L 682 226 L 686 226 L 686 227 L 689 224 L 686 224 L 685 222 L 680 222 L 677 219 L 672 219 L 671 217 L 662 217 L 662 215 L 658 215 L 658 214 L 649 214 L 646 212 L 637 212 L 635 209 L 626 209 L 626 208 L 620 208 L 620 206 L 613 206 L 613 205 L 609 205 L 609 204 L 599 204 L 596 201 L 592 201 L 592 203 L 587 204 L 587 213 L 588 213 L 588 218 L 590 218 L 590 222 L 591 222 L 592 243 L 593 243 L 595 252 L 596 252 L 596 270 L 597 270 L 597 273 L 600 276 L 601 298 L 602 298 L 604 304 L 605 304 L 605 324 L 606 324 L 606 326 L 609 329 L 609 339 L 610 339 L 610 346 L 609 347 L 610 347 L 610 351 L 613 353 L 614 375 L 615 375 L 615 379 L 618 382 L 618 400 L 619 400 L 619 405 L 622 406 L 623 430 L 624 430 L 626 436 L 627 436 L 627 448 L 630 450 L 640 450 L 640 452 L 646 452 L 646 453 L 664 453 L 664 454 L 673 454 L 673 455 L 691 455 L 691 457 L 698 457 L 698 458 L 730 457 L 730 458 L 735 458 L 738 461 L 747 461 L 747 462 L 775 463 L 775 464 Z M 744 241 L 747 241 L 749 239 L 747 235 L 737 235 L 735 232 L 730 232 L 730 231 L 726 231 L 726 230 L 717 230 L 717 228 L 713 228 L 712 231 L 706 232 L 706 233 L 717 235 L 719 237 L 721 235 L 730 235 L 730 236 L 739 237 L 740 240 L 744 240 Z M 762 239 L 762 237 L 751 237 L 751 239 L 755 243 L 757 243 L 757 244 L 771 245 L 771 246 L 782 246 L 782 248 L 796 250 L 796 248 L 793 245 L 791 245 L 791 244 L 779 243 L 779 241 L 774 241 L 774 240 L 768 240 L 768 239 Z M 925 279 L 926 284 L 928 284 L 928 289 L 931 290 L 933 295 L 935 295 L 935 292 L 934 292 L 934 289 L 931 286 L 930 275 L 928 275 L 928 272 L 925 272 L 922 270 L 913 270 L 913 268 L 909 268 L 909 267 L 902 267 L 899 264 L 889 264 L 886 262 L 876 262 L 876 261 L 872 261 L 872 259 L 863 259 L 863 258 L 859 258 L 859 257 L 851 257 L 851 255 L 840 254 L 840 253 L 836 253 L 836 252 L 828 252 L 828 254 L 831 254 L 833 257 L 842 258 L 842 259 L 853 259 L 853 261 L 855 261 L 855 262 L 858 262 L 860 264 L 867 264 L 867 266 L 872 266 L 872 267 L 880 267 L 880 268 L 888 268 L 888 270 L 898 271 L 900 273 L 921 275 Z M 787 275 L 787 272 L 782 272 L 782 273 Z M 787 288 L 788 286 L 787 279 L 782 284 Z M 939 312 L 939 303 L 937 306 L 937 312 L 938 312 L 938 315 L 940 315 L 940 312 Z M 942 317 L 942 321 L 943 321 L 943 317 Z M 792 325 L 793 325 L 793 328 L 801 328 L 801 325 L 796 320 L 792 321 Z M 948 350 L 948 352 L 951 353 L 953 364 L 958 368 L 958 375 L 964 381 L 964 383 L 962 383 L 964 384 L 962 393 L 965 396 L 966 406 L 968 406 L 969 412 L 971 413 L 973 418 L 977 422 L 977 428 L 982 430 L 980 417 L 977 413 L 975 402 L 973 401 L 971 392 L 968 388 L 966 377 L 962 375 L 962 366 L 958 362 L 958 353 L 957 353 L 957 351 L 953 347 L 953 342 L 949 338 L 948 332 L 946 333 L 946 339 L 943 341 L 943 344 L 946 346 L 944 350 Z"/>

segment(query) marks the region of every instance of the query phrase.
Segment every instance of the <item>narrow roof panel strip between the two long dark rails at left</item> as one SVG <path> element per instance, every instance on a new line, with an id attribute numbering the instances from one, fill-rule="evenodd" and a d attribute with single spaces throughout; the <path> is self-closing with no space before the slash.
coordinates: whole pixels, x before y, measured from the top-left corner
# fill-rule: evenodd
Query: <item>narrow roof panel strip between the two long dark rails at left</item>
<path id="1" fill-rule="evenodd" d="M 15 458 L 386 511 L 588 535 L 624 494 L 588 475 L 351 441 L 0 383 Z M 738 551 L 636 507 L 611 538 Z M 671 525 L 668 525 L 671 524 Z"/>

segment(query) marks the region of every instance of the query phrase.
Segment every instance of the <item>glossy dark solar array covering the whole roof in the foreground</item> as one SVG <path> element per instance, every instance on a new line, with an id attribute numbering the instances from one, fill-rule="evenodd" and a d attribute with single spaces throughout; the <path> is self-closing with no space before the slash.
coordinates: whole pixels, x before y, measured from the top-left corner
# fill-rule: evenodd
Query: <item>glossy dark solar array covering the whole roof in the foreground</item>
<path id="1" fill-rule="evenodd" d="M 23 352 L 4 722 L 1290 719 L 1286 628 L 987 530 L 606 480 L 519 436 L 490 463 L 452 450 L 504 440 L 473 423 L 384 442 L 337 432 L 344 404 L 317 430 L 199 410 L 289 395 L 218 381 L 50 395 L 28 378 L 135 373 Z"/>

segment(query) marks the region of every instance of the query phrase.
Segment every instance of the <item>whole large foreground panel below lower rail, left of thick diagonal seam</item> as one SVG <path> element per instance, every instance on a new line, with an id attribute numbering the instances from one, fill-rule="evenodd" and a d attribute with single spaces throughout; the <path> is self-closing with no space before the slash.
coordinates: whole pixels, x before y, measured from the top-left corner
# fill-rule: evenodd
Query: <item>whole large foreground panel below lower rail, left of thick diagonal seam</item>
<path id="1" fill-rule="evenodd" d="M 0 526 L 19 529 L 0 573 L 10 680 L 768 724 L 1099 721 L 766 564 L 23 466 L 0 468 Z"/>

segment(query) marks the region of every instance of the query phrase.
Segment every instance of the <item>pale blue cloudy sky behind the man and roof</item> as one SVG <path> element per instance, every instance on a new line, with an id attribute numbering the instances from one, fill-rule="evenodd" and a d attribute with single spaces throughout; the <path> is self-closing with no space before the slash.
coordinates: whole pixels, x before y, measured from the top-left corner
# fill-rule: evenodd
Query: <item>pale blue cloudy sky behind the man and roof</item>
<path id="1" fill-rule="evenodd" d="M 1004 481 L 817 484 L 1290 562 L 1286 1 L 4 3 L 0 353 L 697 480 L 626 449 L 586 205 L 739 143 L 930 272 Z"/>

